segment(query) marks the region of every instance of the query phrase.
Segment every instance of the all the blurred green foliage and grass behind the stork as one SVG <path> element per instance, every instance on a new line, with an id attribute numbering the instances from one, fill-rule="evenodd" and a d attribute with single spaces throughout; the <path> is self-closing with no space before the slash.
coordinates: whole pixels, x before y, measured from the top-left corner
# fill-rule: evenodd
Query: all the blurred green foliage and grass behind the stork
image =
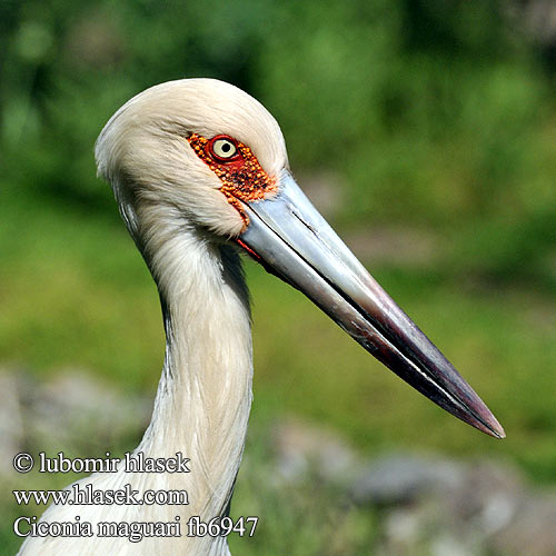
<path id="1" fill-rule="evenodd" d="M 434 267 L 373 270 L 508 439 L 444 415 L 296 291 L 249 269 L 254 421 L 299 414 L 365 450 L 496 454 L 556 480 L 554 76 L 510 4 L 2 0 L 0 360 L 44 374 L 76 364 L 152 390 L 158 298 L 92 148 L 142 89 L 216 77 L 277 117 L 294 171 L 338 176 L 342 232 L 395 222 L 448 246 Z M 250 515 L 258 493 L 244 492 Z M 260 512 L 274 515 L 270 503 Z M 297 524 L 282 525 L 268 535 L 289 538 Z"/>

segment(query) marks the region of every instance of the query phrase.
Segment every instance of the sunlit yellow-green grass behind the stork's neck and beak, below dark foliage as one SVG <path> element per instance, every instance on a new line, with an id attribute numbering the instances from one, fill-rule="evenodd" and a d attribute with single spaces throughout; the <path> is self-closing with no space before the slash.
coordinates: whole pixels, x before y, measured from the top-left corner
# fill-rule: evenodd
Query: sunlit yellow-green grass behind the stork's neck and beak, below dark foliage
<path id="1" fill-rule="evenodd" d="M 0 361 L 42 377 L 63 367 L 85 368 L 121 388 L 153 396 L 163 356 L 158 296 L 123 226 L 116 218 L 91 218 L 63 206 L 28 207 L 24 199 L 3 203 L 0 218 L 6 230 L 0 238 L 6 254 L 0 268 Z M 247 275 L 254 297 L 256 366 L 255 436 L 247 455 L 255 455 L 240 474 L 232 510 L 260 513 L 264 520 L 256 542 L 232 542 L 239 554 L 272 554 L 264 545 L 284 548 L 294 530 L 304 536 L 298 546 L 305 552 L 296 548 L 296 554 L 321 554 L 322 543 L 330 555 L 358 554 L 358 547 L 373 542 L 367 525 L 377 519 L 375 515 L 344 515 L 341 507 L 330 507 L 324 522 L 316 522 L 314 509 L 334 498 L 320 498 L 318 486 L 310 499 L 265 490 L 266 470 L 258 463 L 266 456 L 257 455 L 254 443 L 257 430 L 284 415 L 336 429 L 361 454 L 430 450 L 486 456 L 516 463 L 535 481 L 556 481 L 552 297 L 523 286 L 477 287 L 434 270 L 374 270 L 497 415 L 508 435 L 497 441 L 416 395 L 299 292 L 254 264 L 247 265 Z M 42 484 L 48 488 L 70 480 L 61 477 L 57 485 L 53 476 L 47 478 Z M 21 488 L 28 485 L 19 479 Z M 20 512 L 11 504 L 13 487 L 4 485 L 0 495 L 10 524 Z M 301 516 L 306 523 L 300 529 Z M 324 525 L 331 527 L 338 519 L 349 539 L 347 553 L 345 543 L 336 549 L 337 539 L 319 535 Z M 18 544 L 6 527 L 0 539 L 8 549 Z"/>

